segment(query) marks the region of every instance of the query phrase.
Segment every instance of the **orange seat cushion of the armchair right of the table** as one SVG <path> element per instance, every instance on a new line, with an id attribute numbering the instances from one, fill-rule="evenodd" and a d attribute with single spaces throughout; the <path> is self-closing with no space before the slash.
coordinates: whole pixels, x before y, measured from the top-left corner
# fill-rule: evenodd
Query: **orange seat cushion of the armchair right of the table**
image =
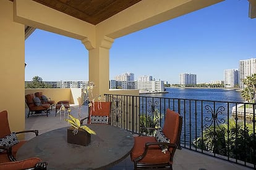
<path id="1" fill-rule="evenodd" d="M 130 158 L 134 161 L 135 158 L 138 158 L 145 150 L 146 142 L 156 142 L 155 137 L 150 136 L 137 136 L 134 137 L 134 148 L 130 153 Z M 148 147 L 148 152 L 145 158 L 140 160 L 140 163 L 168 163 L 170 159 L 170 153 L 162 152 L 159 145 L 151 145 Z"/>

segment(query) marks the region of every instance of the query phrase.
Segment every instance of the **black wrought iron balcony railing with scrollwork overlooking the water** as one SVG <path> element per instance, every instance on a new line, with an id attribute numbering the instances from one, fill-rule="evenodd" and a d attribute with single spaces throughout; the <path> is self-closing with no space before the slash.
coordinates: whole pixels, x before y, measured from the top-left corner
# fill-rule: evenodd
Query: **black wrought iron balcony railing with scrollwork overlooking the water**
<path id="1" fill-rule="evenodd" d="M 134 133 L 163 127 L 170 108 L 183 116 L 181 147 L 255 169 L 255 103 L 105 95 L 113 126 Z"/>

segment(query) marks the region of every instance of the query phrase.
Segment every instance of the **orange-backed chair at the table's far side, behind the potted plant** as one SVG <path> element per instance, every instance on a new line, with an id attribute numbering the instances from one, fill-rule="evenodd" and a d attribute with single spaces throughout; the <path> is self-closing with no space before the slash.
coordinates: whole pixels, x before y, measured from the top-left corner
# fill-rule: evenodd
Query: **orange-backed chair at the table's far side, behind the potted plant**
<path id="1" fill-rule="evenodd" d="M 111 102 L 95 102 L 89 107 L 88 117 L 80 120 L 80 124 L 87 119 L 87 123 L 111 123 Z"/>

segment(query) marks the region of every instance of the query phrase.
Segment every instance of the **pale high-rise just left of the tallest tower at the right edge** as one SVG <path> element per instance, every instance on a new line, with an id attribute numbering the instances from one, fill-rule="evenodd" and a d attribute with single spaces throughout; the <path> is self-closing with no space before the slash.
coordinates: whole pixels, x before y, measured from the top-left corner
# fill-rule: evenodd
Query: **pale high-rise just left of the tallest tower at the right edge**
<path id="1" fill-rule="evenodd" d="M 238 84 L 237 69 L 224 70 L 224 84 L 230 87 L 234 87 Z"/>

